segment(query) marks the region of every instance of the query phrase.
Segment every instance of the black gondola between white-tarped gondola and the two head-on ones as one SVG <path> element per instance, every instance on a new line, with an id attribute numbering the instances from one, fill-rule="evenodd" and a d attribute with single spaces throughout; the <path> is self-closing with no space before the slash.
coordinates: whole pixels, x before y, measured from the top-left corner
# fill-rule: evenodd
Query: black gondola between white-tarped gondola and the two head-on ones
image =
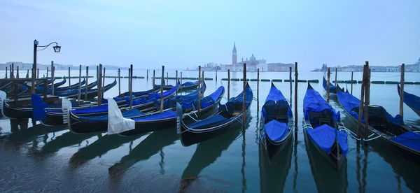
<path id="1" fill-rule="evenodd" d="M 246 96 L 245 115 L 242 112 L 244 93 Z M 241 123 L 243 115 L 246 117 L 249 115 L 249 106 L 251 106 L 252 100 L 253 94 L 251 87 L 249 87 L 248 83 L 246 83 L 244 92 L 241 92 L 238 96 L 229 99 L 229 101 L 224 105 L 220 105 L 219 111 L 215 115 L 198 120 L 193 124 L 187 124 L 183 118 L 180 122 L 181 125 L 179 126 L 181 129 L 181 143 L 184 146 L 189 146 L 225 133 L 235 126 L 235 124 Z"/>

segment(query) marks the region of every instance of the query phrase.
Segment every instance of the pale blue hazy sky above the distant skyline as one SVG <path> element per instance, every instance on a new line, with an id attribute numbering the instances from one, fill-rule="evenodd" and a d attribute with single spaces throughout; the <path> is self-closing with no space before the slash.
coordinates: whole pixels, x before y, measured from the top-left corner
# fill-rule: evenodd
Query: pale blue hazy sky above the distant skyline
<path id="1" fill-rule="evenodd" d="M 38 63 L 150 69 L 232 63 L 254 54 L 301 69 L 413 64 L 420 1 L 0 1 L 0 63 L 32 62 L 33 41 L 58 41 Z"/>

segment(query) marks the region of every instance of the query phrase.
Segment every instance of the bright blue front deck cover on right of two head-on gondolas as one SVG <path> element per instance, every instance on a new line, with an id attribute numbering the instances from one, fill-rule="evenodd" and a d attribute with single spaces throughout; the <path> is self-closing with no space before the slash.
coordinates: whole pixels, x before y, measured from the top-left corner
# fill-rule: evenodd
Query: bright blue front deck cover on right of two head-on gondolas
<path id="1" fill-rule="evenodd" d="M 323 124 L 314 129 L 307 129 L 307 134 L 311 141 L 314 142 L 318 148 L 321 148 L 328 155 L 331 153 L 331 148 L 335 143 L 336 129 L 330 127 L 328 124 Z"/>

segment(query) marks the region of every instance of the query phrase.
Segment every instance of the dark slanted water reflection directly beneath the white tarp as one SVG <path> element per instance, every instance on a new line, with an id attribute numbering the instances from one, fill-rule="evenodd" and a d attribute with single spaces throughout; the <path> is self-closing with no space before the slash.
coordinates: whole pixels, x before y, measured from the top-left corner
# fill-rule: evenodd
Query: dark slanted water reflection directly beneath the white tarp
<path id="1" fill-rule="evenodd" d="M 147 133 L 146 133 L 147 134 Z M 73 166 L 80 166 L 90 159 L 95 157 L 101 157 L 106 152 L 110 150 L 119 148 L 125 143 L 132 144 L 132 141 L 143 136 L 144 134 L 134 135 L 134 136 L 119 136 L 119 135 L 108 135 L 97 134 L 98 139 L 90 145 L 87 145 L 84 148 L 80 148 L 76 153 L 71 156 L 70 163 Z M 131 147 L 131 145 L 130 145 Z M 131 148 L 130 148 L 131 151 Z"/>

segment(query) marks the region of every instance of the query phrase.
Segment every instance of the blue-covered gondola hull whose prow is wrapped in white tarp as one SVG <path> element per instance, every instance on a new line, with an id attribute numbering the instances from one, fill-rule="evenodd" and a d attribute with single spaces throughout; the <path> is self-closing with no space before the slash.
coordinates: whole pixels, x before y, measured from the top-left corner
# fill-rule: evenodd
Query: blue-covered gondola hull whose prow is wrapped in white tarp
<path id="1" fill-rule="evenodd" d="M 197 112 L 197 100 L 193 102 L 182 101 L 181 106 L 182 109 L 169 109 L 165 110 L 162 113 L 156 112 L 151 113 L 146 116 L 132 118 L 135 121 L 135 129 L 128 130 L 121 132 L 120 135 L 122 136 L 131 136 L 134 134 L 140 134 L 149 131 L 157 131 L 160 129 L 165 129 L 168 127 L 175 127 L 176 126 L 176 119 L 177 113 L 180 113 L 182 116 L 186 117 L 185 121 L 197 120 L 202 117 L 207 116 L 209 113 L 217 110 L 218 104 L 220 103 L 221 99 L 223 98 L 223 94 L 225 93 L 225 87 L 221 86 L 218 89 L 200 99 L 201 103 L 201 110 L 200 113 Z M 180 106 L 179 106 L 180 107 Z M 177 107 L 177 108 L 179 108 Z M 180 112 L 178 112 L 178 110 Z"/>

